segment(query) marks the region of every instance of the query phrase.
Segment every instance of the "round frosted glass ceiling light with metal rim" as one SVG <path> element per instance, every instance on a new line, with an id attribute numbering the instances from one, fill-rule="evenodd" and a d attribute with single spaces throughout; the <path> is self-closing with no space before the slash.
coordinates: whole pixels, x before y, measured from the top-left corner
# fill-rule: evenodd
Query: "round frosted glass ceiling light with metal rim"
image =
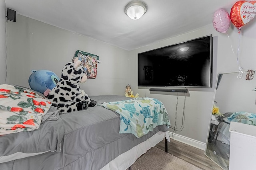
<path id="1" fill-rule="evenodd" d="M 125 8 L 124 12 L 132 20 L 138 20 L 142 17 L 147 11 L 147 5 L 144 2 L 133 0 L 129 2 Z"/>

